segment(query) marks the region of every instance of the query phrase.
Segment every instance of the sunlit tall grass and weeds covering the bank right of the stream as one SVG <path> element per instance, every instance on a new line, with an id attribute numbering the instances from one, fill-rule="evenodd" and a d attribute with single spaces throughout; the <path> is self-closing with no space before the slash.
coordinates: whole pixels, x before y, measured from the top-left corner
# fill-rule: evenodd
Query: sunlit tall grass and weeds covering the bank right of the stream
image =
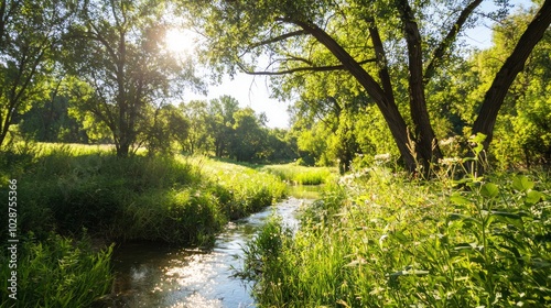
<path id="1" fill-rule="evenodd" d="M 551 304 L 549 175 L 415 182 L 343 178 L 293 237 L 277 221 L 241 275 L 261 307 L 544 307 Z"/>

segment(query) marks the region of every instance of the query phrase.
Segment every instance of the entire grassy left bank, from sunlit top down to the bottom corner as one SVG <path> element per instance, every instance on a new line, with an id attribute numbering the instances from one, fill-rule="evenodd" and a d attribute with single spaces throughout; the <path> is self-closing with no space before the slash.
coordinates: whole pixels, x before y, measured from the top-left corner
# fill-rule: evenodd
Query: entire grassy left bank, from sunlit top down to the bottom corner
<path id="1" fill-rule="evenodd" d="M 17 180 L 19 307 L 86 307 L 108 290 L 110 250 L 93 251 L 83 234 L 205 245 L 228 220 L 271 205 L 285 190 L 277 176 L 246 166 L 206 157 L 121 160 L 97 146 L 19 147 L 2 153 L 0 166 L 0 196 L 8 199 L 9 183 Z M 0 216 L 8 217 L 7 207 Z M 7 243 L 8 224 L 1 229 Z M 0 257 L 7 264 L 8 250 Z M 9 268 L 2 267 L 2 277 L 9 274 L 3 271 Z M 85 298 L 76 301 L 78 296 Z M 9 300 L 2 288 L 2 305 Z"/>

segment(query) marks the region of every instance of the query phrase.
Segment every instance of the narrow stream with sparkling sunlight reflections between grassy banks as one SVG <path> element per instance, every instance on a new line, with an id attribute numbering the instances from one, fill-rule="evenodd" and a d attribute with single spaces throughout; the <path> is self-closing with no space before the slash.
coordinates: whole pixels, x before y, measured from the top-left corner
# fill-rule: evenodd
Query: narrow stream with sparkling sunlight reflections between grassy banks
<path id="1" fill-rule="evenodd" d="M 294 189 L 291 195 L 299 198 L 228 223 L 208 251 L 143 243 L 119 248 L 114 254 L 114 297 L 107 307 L 255 307 L 251 284 L 233 277 L 233 268 L 241 268 L 242 245 L 273 211 L 284 224 L 298 228 L 296 210 L 313 195 Z"/>

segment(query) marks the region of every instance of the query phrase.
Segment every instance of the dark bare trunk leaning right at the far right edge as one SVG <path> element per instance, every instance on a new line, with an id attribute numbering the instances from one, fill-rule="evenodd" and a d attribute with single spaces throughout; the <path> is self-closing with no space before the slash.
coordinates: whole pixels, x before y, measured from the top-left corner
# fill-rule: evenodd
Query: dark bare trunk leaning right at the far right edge
<path id="1" fill-rule="evenodd" d="M 528 56 L 536 44 L 543 37 L 550 24 L 551 0 L 545 0 L 522 36 L 520 36 L 511 55 L 496 74 L 494 82 L 486 92 L 478 117 L 473 124 L 474 134 L 483 133 L 486 135 L 484 148 L 488 148 L 494 138 L 494 125 L 496 124 L 497 114 L 504 103 L 509 87 L 525 67 Z"/>

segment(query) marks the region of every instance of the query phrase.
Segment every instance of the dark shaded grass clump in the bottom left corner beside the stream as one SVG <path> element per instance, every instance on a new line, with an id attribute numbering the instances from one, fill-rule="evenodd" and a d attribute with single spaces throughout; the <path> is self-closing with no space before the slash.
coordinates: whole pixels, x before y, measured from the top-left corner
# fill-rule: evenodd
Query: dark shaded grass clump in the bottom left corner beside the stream
<path id="1" fill-rule="evenodd" d="M 24 239 L 18 248 L 17 300 L 8 297 L 8 278 L 2 279 L 0 307 L 90 307 L 110 292 L 112 246 L 94 251 L 90 240 L 73 241 L 51 234 L 45 241 Z M 2 246 L 0 260 L 8 264 L 9 251 Z M 11 277 L 2 266 L 2 277 Z M 15 305 L 15 306 L 13 306 Z"/>

